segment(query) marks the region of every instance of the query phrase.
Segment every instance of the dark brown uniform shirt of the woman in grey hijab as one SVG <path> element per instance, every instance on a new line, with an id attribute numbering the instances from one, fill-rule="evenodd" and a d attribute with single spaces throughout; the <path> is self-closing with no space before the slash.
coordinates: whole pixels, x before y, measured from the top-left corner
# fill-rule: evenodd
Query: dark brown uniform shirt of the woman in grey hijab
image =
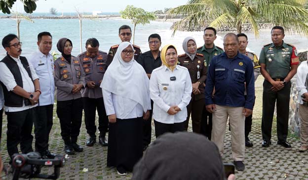
<path id="1" fill-rule="evenodd" d="M 191 60 L 191 58 L 186 54 L 179 55 L 178 65 L 184 66 L 188 69 L 191 76 L 192 84 L 200 82 L 198 89 L 201 93 L 192 93 L 192 100 L 199 100 L 205 98 L 203 83 L 206 80 L 207 67 L 203 55 L 197 53 L 193 60 Z"/>

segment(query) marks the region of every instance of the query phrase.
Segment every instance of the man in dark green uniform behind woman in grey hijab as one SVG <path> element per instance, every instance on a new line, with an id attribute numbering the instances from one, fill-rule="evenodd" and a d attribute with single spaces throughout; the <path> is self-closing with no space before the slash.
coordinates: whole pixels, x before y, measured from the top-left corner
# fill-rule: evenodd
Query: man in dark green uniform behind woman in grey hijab
<path id="1" fill-rule="evenodd" d="M 215 28 L 212 27 L 205 28 L 203 34 L 204 45 L 198 47 L 197 49 L 197 53 L 202 54 L 204 57 L 205 60 L 204 65 L 207 67 L 207 70 L 208 70 L 208 64 L 210 63 L 212 58 L 224 52 L 224 49 L 215 46 L 214 41 L 216 37 L 217 36 Z M 212 113 L 208 112 L 206 108 L 204 108 L 201 120 L 201 134 L 205 135 L 209 140 L 211 140 L 211 133 L 212 133 Z"/>

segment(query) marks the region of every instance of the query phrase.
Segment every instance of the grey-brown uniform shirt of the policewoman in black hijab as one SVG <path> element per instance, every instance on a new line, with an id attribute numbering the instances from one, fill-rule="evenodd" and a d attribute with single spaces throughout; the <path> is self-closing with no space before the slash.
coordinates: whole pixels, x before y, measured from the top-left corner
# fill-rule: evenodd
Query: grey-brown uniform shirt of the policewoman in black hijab
<path id="1" fill-rule="evenodd" d="M 80 91 L 75 94 L 72 93 L 74 84 L 82 84 L 84 87 L 84 73 L 79 59 L 72 56 L 71 63 L 69 63 L 63 57 L 60 57 L 54 62 L 54 65 L 57 100 L 66 101 L 80 98 Z"/>

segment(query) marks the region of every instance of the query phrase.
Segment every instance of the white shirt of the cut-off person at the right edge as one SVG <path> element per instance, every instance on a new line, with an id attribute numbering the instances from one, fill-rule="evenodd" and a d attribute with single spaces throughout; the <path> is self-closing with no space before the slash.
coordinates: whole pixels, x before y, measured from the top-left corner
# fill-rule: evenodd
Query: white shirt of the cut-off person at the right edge
<path id="1" fill-rule="evenodd" d="M 300 104 L 304 103 L 301 95 L 308 92 L 307 87 L 305 86 L 307 74 L 308 74 L 308 61 L 305 60 L 301 62 L 301 64 L 297 68 L 297 74 L 296 74 L 296 89 L 298 90 L 298 101 L 297 102 Z"/>

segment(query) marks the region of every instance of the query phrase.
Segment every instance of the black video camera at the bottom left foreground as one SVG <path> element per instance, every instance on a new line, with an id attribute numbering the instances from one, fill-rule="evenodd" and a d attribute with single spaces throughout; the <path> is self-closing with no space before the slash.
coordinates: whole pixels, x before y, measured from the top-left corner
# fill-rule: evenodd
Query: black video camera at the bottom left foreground
<path id="1" fill-rule="evenodd" d="M 21 178 L 42 178 L 56 180 L 60 176 L 60 168 L 65 164 L 63 155 L 56 155 L 54 159 L 42 159 L 38 152 L 14 154 L 12 156 L 13 180 Z M 39 174 L 42 166 L 54 166 L 51 175 Z"/>

